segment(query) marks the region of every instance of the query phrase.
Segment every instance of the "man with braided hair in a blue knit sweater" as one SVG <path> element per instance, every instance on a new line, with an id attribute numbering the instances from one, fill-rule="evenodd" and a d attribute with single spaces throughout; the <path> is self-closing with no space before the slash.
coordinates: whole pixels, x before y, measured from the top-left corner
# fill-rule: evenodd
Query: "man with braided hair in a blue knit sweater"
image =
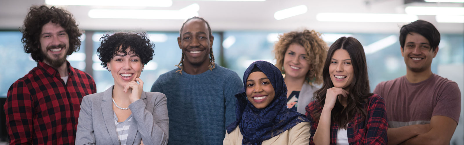
<path id="1" fill-rule="evenodd" d="M 242 81 L 214 63 L 213 39 L 203 18 L 186 20 L 177 38 L 179 68 L 162 74 L 151 88 L 167 97 L 169 145 L 220 145 L 235 120 L 234 96 Z"/>

